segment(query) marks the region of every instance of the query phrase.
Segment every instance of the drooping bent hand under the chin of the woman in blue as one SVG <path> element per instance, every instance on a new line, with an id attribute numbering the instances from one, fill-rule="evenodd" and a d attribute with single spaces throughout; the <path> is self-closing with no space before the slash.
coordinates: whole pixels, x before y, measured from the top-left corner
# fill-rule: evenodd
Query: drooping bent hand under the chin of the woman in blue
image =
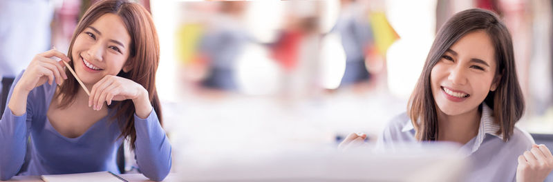
<path id="1" fill-rule="evenodd" d="M 95 83 L 88 97 L 88 107 L 101 110 L 104 101 L 111 105 L 111 101 L 133 100 L 135 112 L 139 117 L 145 118 L 151 112 L 148 91 L 142 85 L 123 77 L 106 75 Z M 145 115 L 145 116 L 144 116 Z"/>

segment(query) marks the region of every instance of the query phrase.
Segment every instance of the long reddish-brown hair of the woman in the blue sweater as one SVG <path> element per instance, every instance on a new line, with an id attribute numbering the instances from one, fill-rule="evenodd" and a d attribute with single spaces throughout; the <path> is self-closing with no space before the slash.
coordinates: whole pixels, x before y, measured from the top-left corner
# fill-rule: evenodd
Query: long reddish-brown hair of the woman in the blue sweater
<path id="1" fill-rule="evenodd" d="M 161 124 L 162 114 L 155 82 L 156 70 L 158 70 L 160 59 L 158 33 L 153 25 L 151 15 L 138 3 L 131 3 L 127 0 L 106 0 L 95 3 L 91 8 L 88 8 L 73 33 L 73 38 L 71 39 L 67 54 L 68 57 L 72 59 L 69 64 L 72 68 L 75 68 L 73 65 L 73 56 L 71 55 L 75 38 L 86 27 L 90 26 L 94 21 L 106 13 L 117 14 L 124 22 L 124 26 L 131 36 L 131 46 L 129 49 L 131 52 L 125 63 L 125 65 L 131 66 L 131 70 L 129 70 L 129 72 L 123 72 L 123 70 L 121 70 L 117 76 L 130 79 L 142 85 L 148 91 L 149 100 Z M 66 68 L 66 74 L 69 72 L 67 69 L 68 68 Z M 69 74 L 67 75 L 68 77 L 71 76 Z M 79 85 L 75 79 L 67 79 L 64 81 L 64 84 L 59 88 L 59 94 L 56 96 L 62 97 L 60 108 L 66 108 L 75 101 L 78 89 Z M 133 115 L 135 107 L 133 101 L 114 101 L 108 108 L 117 109 L 117 113 L 113 119 L 118 121 L 120 126 L 120 137 L 129 139 L 131 148 L 134 149 L 136 131 L 134 128 Z"/>

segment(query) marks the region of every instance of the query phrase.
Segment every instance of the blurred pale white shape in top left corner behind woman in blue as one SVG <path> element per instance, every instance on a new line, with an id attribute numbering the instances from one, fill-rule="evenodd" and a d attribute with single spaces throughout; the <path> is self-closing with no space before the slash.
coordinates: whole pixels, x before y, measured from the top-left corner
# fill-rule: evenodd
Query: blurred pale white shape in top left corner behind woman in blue
<path id="1" fill-rule="evenodd" d="M 0 1 L 0 114 L 17 73 L 26 68 L 35 54 L 51 46 L 50 23 L 54 10 L 50 3 L 49 0 Z"/>

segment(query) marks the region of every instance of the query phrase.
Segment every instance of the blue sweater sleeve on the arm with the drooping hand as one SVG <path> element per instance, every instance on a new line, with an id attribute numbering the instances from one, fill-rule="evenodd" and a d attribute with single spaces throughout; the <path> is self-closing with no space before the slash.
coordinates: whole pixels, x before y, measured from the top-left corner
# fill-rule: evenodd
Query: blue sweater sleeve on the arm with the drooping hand
<path id="1" fill-rule="evenodd" d="M 153 181 L 165 179 L 171 170 L 171 143 L 152 110 L 146 119 L 134 115 L 135 156 L 140 172 Z"/>

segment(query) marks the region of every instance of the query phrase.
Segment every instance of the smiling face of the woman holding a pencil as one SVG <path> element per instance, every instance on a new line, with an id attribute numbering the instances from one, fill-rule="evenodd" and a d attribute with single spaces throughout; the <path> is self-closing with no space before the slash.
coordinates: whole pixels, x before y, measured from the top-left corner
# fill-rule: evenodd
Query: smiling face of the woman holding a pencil
<path id="1" fill-rule="evenodd" d="M 117 75 L 129 57 L 131 36 L 122 19 L 112 13 L 102 15 L 86 27 L 73 43 L 73 64 L 77 77 L 92 85 L 106 75 Z"/>

